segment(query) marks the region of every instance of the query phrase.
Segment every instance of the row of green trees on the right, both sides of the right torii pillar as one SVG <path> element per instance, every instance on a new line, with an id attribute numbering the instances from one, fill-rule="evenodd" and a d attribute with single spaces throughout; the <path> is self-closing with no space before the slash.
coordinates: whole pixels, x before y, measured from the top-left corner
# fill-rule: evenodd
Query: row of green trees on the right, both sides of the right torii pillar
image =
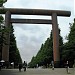
<path id="1" fill-rule="evenodd" d="M 75 19 L 74 23 L 70 24 L 70 33 L 67 36 L 67 42 L 63 44 L 63 38 L 60 35 L 59 29 L 59 50 L 60 50 L 60 65 L 65 66 L 66 61 L 69 61 L 70 67 L 72 67 L 75 59 Z M 41 45 L 40 50 L 36 56 L 33 56 L 29 67 L 49 66 L 53 60 L 53 38 L 52 31 L 50 37 L 47 38 L 44 44 Z"/>

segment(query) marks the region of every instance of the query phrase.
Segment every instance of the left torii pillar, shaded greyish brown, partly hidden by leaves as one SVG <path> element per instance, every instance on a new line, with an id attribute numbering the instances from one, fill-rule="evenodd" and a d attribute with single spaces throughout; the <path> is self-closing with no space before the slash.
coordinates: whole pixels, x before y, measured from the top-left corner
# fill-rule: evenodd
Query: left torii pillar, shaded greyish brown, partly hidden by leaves
<path id="1" fill-rule="evenodd" d="M 10 20 L 11 20 L 11 13 L 9 11 L 5 14 L 5 28 L 6 32 L 4 33 L 4 37 L 6 38 L 5 42 L 3 43 L 2 49 L 2 60 L 5 61 L 6 65 L 9 65 L 9 45 L 10 45 Z"/>

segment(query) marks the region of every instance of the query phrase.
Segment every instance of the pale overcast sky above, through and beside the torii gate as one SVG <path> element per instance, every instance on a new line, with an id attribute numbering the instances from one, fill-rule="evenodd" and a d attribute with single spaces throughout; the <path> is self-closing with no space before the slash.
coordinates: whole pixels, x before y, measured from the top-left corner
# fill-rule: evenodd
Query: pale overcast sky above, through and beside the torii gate
<path id="1" fill-rule="evenodd" d="M 69 23 L 74 19 L 74 0 L 7 0 L 4 4 L 9 8 L 26 9 L 48 9 L 48 10 L 68 10 L 71 11 L 70 17 L 58 17 L 59 28 L 64 42 L 65 36 L 69 33 Z M 50 16 L 12 16 L 14 18 L 41 18 L 50 19 Z M 35 24 L 13 24 L 17 47 L 20 51 L 22 60 L 29 62 L 41 47 L 41 44 L 50 36 L 51 25 Z"/>

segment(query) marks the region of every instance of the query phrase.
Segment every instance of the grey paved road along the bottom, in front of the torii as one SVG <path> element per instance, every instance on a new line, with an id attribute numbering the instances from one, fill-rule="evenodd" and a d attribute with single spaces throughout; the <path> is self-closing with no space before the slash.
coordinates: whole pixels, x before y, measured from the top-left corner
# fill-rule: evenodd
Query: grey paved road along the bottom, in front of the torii
<path id="1" fill-rule="evenodd" d="M 75 75 L 75 69 L 69 69 L 69 75 Z M 26 72 L 19 72 L 18 69 L 3 69 L 0 71 L 0 75 L 68 75 L 65 68 L 52 69 L 27 69 Z"/>

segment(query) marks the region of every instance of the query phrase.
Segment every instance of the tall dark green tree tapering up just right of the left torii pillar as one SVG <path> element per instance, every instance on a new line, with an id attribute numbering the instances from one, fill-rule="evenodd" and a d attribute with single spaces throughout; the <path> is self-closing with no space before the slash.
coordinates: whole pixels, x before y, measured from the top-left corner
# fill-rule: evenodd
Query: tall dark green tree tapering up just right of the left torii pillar
<path id="1" fill-rule="evenodd" d="M 15 40 L 15 36 L 14 36 L 13 32 L 14 32 L 14 29 L 13 29 L 13 26 L 11 25 L 11 28 L 10 28 L 9 61 L 10 61 L 10 63 L 14 62 L 15 66 L 17 66 L 18 63 L 22 63 L 22 59 L 21 59 L 21 56 L 20 56 L 20 52 L 17 48 L 16 40 Z"/>

